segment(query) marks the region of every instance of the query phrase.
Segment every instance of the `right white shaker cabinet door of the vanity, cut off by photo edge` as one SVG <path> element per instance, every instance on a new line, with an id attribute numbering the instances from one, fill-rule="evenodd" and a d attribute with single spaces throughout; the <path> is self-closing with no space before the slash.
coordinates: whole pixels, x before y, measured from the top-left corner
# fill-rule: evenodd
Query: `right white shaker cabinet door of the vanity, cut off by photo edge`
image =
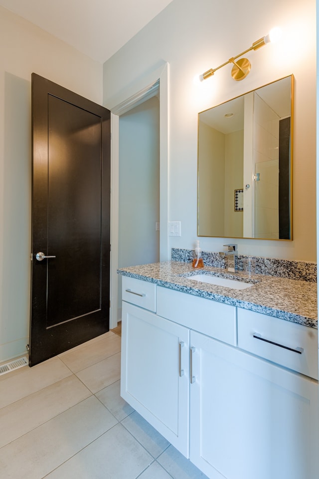
<path id="1" fill-rule="evenodd" d="M 318 477 L 318 382 L 191 331 L 190 460 L 210 478 Z"/>

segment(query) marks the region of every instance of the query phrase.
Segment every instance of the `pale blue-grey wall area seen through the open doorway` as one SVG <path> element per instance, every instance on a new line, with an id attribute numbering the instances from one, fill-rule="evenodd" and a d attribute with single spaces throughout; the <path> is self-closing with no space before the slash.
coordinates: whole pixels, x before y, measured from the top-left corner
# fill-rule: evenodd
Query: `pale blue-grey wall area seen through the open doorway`
<path id="1" fill-rule="evenodd" d="M 120 116 L 119 267 L 159 260 L 160 102 L 153 96 Z"/>

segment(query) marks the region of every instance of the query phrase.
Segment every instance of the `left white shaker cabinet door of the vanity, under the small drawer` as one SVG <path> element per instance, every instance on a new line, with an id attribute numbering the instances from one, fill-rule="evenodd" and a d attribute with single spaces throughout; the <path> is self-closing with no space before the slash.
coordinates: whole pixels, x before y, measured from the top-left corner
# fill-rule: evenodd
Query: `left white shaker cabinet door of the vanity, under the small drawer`
<path id="1" fill-rule="evenodd" d="M 123 301 L 121 396 L 189 457 L 189 330 Z"/>

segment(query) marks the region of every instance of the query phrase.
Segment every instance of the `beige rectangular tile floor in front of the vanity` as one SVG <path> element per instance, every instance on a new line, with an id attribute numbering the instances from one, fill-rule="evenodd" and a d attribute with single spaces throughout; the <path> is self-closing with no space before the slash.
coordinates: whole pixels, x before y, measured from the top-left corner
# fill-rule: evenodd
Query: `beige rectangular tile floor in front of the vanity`
<path id="1" fill-rule="evenodd" d="M 109 331 L 0 376 L 0 478 L 206 478 L 120 397 L 120 349 Z"/>

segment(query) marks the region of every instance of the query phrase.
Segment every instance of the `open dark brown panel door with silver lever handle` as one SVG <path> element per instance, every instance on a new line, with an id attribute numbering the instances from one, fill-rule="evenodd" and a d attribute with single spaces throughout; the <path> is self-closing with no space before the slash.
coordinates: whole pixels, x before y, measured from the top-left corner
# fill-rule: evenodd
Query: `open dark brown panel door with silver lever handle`
<path id="1" fill-rule="evenodd" d="M 33 73 L 32 167 L 30 366 L 109 330 L 110 111 Z"/>

